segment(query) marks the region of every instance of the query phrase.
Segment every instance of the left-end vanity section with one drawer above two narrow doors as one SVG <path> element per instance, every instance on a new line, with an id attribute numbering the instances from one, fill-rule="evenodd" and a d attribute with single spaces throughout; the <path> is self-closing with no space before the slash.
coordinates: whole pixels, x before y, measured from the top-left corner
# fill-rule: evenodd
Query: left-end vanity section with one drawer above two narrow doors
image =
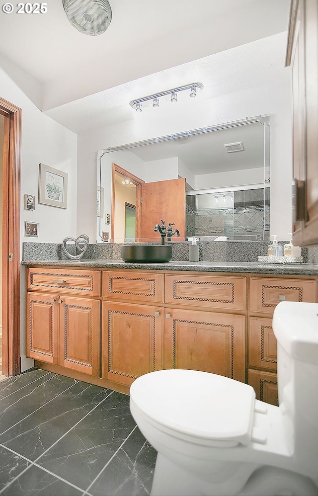
<path id="1" fill-rule="evenodd" d="M 100 271 L 29 268 L 27 291 L 26 356 L 98 377 Z"/>

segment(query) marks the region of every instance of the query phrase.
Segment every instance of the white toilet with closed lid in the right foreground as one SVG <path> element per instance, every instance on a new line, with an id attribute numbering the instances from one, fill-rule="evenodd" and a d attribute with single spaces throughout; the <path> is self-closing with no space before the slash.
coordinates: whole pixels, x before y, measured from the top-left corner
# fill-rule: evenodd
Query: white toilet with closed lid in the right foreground
<path id="1" fill-rule="evenodd" d="M 131 385 L 131 413 L 158 451 L 153 496 L 318 495 L 318 304 L 279 303 L 273 331 L 279 407 L 197 370 Z"/>

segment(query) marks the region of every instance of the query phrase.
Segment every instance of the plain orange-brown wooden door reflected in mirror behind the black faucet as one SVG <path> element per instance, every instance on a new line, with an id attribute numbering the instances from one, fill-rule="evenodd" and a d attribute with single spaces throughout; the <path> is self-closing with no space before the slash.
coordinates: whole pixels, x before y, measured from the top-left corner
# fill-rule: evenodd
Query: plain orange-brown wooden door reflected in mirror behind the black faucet
<path id="1" fill-rule="evenodd" d="M 145 182 L 141 188 L 140 237 L 142 241 L 161 241 L 159 233 L 154 233 L 160 219 L 174 223 L 172 229 L 178 229 L 173 241 L 184 241 L 185 236 L 185 178 L 166 181 Z"/>

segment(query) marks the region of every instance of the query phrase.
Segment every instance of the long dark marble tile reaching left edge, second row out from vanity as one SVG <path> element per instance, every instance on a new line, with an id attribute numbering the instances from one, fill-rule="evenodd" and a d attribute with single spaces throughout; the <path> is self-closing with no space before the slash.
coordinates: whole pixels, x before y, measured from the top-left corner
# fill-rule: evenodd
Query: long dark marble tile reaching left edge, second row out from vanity
<path id="1" fill-rule="evenodd" d="M 110 393 L 78 382 L 0 435 L 0 443 L 34 461 Z"/>

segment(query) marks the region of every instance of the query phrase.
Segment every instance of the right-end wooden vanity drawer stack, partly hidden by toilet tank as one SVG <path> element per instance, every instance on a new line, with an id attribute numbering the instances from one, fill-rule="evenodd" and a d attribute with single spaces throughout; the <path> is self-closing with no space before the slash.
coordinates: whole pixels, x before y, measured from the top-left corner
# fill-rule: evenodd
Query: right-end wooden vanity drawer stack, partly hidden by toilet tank
<path id="1" fill-rule="evenodd" d="M 256 398 L 278 405 L 277 341 L 272 316 L 281 301 L 318 301 L 317 277 L 250 276 L 248 307 L 248 384 Z"/>

